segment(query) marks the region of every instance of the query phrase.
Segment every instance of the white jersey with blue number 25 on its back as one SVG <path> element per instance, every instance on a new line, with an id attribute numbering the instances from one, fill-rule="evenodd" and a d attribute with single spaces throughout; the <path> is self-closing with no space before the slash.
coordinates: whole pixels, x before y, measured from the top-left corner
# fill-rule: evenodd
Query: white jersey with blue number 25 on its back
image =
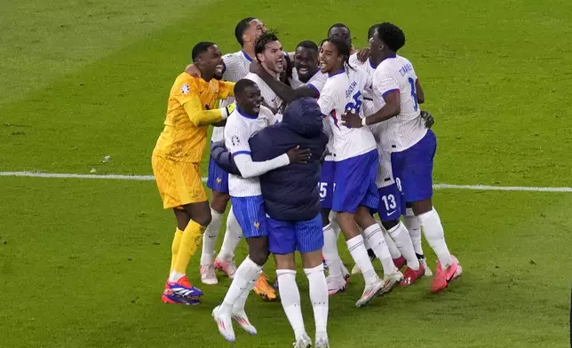
<path id="1" fill-rule="evenodd" d="M 335 162 L 366 154 L 376 148 L 376 141 L 367 127 L 348 128 L 342 125 L 341 116 L 347 109 L 354 109 L 362 116 L 361 92 L 369 85 L 368 75 L 360 69 L 346 69 L 330 75 L 326 81 L 318 105 L 324 115 L 324 126 L 330 127 L 332 138 L 328 149 Z"/>

